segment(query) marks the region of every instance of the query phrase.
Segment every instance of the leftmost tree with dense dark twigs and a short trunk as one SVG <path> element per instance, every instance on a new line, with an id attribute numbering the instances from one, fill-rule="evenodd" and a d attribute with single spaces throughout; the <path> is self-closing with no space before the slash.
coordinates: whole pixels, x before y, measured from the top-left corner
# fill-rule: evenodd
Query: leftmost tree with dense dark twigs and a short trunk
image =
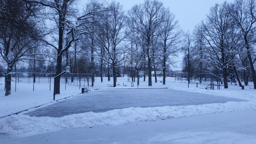
<path id="1" fill-rule="evenodd" d="M 20 0 L 0 2 L 0 52 L 7 64 L 5 96 L 11 94 L 12 67 L 18 61 L 34 55 L 29 50 L 36 47 L 42 36 L 40 22 L 35 21 L 41 7 Z"/>

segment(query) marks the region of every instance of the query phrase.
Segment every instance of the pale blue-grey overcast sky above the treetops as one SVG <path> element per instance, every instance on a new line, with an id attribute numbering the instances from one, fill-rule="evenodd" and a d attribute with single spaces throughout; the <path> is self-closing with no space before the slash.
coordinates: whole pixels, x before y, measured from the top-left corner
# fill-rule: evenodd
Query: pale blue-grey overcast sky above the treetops
<path id="1" fill-rule="evenodd" d="M 133 5 L 143 3 L 144 0 L 116 0 L 124 6 L 124 10 L 129 10 Z M 186 32 L 193 31 L 193 28 L 201 20 L 204 20 L 206 13 L 210 7 L 216 3 L 223 3 L 225 0 L 160 0 L 165 7 L 169 7 L 170 11 L 179 20 L 180 27 Z M 232 0 L 227 0 L 232 2 Z M 234 1 L 234 0 L 233 0 Z"/>

